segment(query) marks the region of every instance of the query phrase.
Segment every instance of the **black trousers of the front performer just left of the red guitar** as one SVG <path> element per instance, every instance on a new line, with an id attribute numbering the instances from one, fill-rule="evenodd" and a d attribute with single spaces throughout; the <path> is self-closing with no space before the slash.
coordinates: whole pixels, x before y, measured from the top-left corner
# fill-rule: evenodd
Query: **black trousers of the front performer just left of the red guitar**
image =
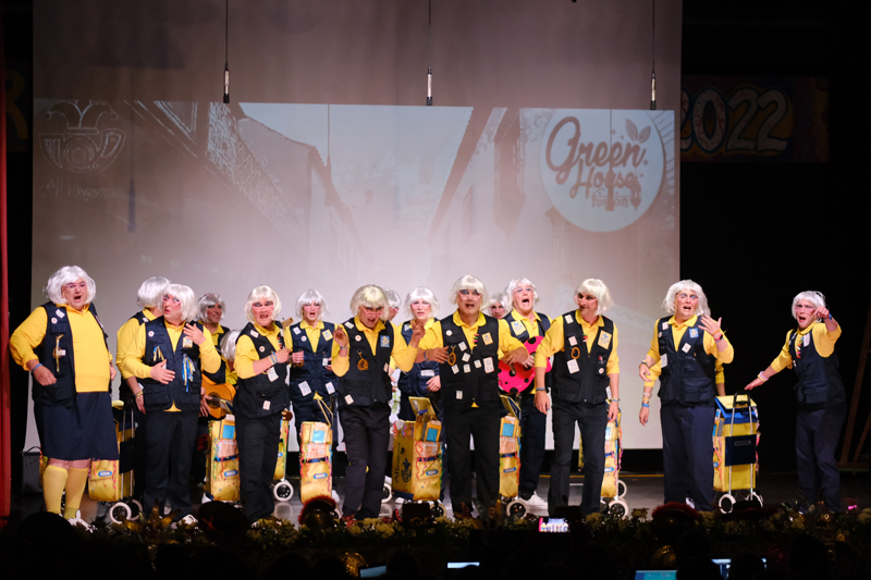
<path id="1" fill-rule="evenodd" d="M 444 410 L 444 430 L 450 453 L 447 471 L 451 474 L 451 506 L 461 514 L 463 504 L 469 509 L 471 503 L 471 449 L 469 437 L 475 442 L 475 472 L 477 496 L 483 505 L 499 495 L 499 423 L 500 408 L 470 407 Z"/>

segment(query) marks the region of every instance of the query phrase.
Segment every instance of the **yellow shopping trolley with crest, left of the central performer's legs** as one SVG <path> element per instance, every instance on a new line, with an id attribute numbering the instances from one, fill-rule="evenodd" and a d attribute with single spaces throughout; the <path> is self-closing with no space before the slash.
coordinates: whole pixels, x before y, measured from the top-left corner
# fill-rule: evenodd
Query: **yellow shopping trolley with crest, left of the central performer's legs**
<path id="1" fill-rule="evenodd" d="M 393 423 L 393 495 L 406 502 L 431 502 L 434 516 L 442 486 L 442 423 L 427 397 L 409 397 L 414 421 Z"/>

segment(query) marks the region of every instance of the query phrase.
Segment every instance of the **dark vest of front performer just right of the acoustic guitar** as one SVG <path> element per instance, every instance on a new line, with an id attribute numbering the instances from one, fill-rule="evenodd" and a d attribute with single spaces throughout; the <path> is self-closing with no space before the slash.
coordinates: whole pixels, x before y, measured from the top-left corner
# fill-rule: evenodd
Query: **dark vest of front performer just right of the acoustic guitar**
<path id="1" fill-rule="evenodd" d="M 281 331 L 277 322 L 273 321 L 272 324 Z M 243 336 L 252 340 L 260 360 L 269 358 L 269 355 L 275 351 L 269 338 L 260 334 L 250 322 L 238 333 L 236 346 Z M 285 346 L 281 332 L 279 332 L 279 346 L 282 348 Z M 290 404 L 286 384 L 287 366 L 287 362 L 277 362 L 271 367 L 275 371 L 275 380 L 269 379 L 269 369 L 248 379 L 240 377 L 236 382 L 236 396 L 233 399 L 234 414 L 243 418 L 266 417 L 287 408 Z"/>

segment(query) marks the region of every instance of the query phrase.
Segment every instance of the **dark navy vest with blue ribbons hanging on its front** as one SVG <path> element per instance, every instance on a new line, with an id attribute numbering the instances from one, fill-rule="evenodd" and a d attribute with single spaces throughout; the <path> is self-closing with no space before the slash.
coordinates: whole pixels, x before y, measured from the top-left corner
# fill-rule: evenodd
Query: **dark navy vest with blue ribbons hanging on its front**
<path id="1" fill-rule="evenodd" d="M 203 385 L 199 346 L 182 333 L 173 348 L 164 321 L 163 317 L 159 317 L 145 323 L 143 363 L 154 367 L 165 360 L 167 369 L 175 372 L 175 377 L 169 384 L 151 378 L 139 379 L 145 410 L 164 411 L 173 403 L 183 411 L 199 409 L 199 390 Z M 203 330 L 199 322 L 193 324 Z"/>

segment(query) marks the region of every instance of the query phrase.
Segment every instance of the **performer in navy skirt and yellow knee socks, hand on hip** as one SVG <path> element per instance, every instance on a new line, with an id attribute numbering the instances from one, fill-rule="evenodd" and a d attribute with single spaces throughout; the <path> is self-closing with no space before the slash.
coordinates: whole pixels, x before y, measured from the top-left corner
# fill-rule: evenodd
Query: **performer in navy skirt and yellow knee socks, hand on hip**
<path id="1" fill-rule="evenodd" d="M 42 455 L 46 509 L 75 518 L 85 492 L 88 465 L 118 459 L 110 385 L 112 355 L 97 309 L 97 286 L 77 266 L 64 266 L 48 280 L 49 301 L 34 310 L 9 341 L 13 360 L 33 374 L 34 416 Z"/>

